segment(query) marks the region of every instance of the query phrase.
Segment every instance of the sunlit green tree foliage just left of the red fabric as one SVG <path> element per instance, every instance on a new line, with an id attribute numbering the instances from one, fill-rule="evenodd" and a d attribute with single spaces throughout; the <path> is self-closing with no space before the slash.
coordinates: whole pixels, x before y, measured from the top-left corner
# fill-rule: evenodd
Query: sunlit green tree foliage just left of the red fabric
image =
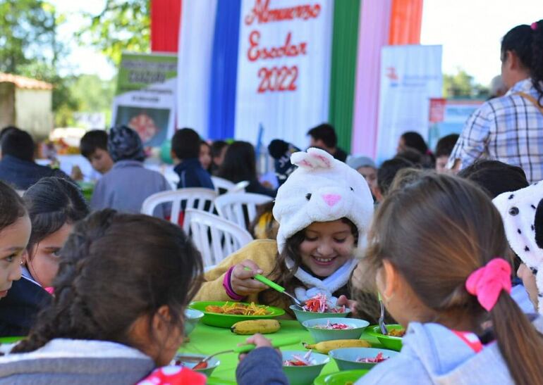
<path id="1" fill-rule="evenodd" d="M 77 34 L 80 44 L 96 46 L 113 63 L 122 51 L 147 52 L 150 47 L 150 0 L 107 0 L 99 15 L 86 13 L 90 25 Z"/>

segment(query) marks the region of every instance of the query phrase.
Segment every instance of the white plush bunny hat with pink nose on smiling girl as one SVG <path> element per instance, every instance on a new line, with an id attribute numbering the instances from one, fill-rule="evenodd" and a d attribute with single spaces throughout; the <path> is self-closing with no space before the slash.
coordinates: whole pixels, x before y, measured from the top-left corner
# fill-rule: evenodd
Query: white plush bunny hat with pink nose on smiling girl
<path id="1" fill-rule="evenodd" d="M 288 238 L 313 222 L 343 217 L 358 228 L 358 247 L 365 246 L 374 206 L 364 177 L 319 149 L 293 153 L 291 163 L 298 168 L 277 191 L 274 206 L 279 253 Z"/>

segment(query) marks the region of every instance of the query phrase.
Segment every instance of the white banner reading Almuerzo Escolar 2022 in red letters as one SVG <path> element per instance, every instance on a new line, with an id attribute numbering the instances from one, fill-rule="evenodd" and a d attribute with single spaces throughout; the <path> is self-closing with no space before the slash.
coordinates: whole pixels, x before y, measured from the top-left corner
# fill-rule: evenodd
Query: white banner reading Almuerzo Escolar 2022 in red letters
<path id="1" fill-rule="evenodd" d="M 236 139 L 281 138 L 301 148 L 328 119 L 334 4 L 243 0 L 236 86 Z"/>

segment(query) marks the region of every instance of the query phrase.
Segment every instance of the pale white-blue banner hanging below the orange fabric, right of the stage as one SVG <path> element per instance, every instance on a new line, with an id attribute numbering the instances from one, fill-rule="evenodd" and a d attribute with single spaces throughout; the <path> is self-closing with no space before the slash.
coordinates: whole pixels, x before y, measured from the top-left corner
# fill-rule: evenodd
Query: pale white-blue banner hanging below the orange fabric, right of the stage
<path id="1" fill-rule="evenodd" d="M 429 100 L 442 94 L 441 46 L 385 46 L 381 55 L 381 87 L 377 160 L 396 153 L 398 139 L 415 131 L 428 139 Z"/>

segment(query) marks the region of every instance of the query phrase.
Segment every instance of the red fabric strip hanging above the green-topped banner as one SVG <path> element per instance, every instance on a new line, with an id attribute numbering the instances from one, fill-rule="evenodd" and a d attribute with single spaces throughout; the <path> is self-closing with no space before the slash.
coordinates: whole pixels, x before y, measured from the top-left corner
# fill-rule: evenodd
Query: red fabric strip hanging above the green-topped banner
<path id="1" fill-rule="evenodd" d="M 151 1 L 151 51 L 178 51 L 181 1 Z"/>

